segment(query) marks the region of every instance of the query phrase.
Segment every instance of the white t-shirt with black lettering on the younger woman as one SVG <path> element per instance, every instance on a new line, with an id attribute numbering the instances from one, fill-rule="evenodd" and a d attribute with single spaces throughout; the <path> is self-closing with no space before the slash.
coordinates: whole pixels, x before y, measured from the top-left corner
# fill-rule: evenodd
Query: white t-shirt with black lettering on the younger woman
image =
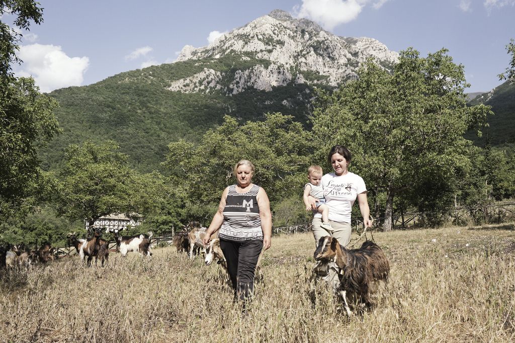
<path id="1" fill-rule="evenodd" d="M 361 176 L 350 171 L 342 176 L 334 173 L 322 176 L 325 205 L 329 208 L 329 220 L 351 222 L 352 205 L 358 194 L 366 192 L 367 187 Z M 321 213 L 315 217 L 321 217 Z"/>

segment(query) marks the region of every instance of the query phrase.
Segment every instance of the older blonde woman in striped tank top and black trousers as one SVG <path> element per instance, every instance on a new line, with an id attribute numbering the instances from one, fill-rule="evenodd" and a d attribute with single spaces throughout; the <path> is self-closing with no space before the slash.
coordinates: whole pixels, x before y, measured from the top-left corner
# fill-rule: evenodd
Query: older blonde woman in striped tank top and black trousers
<path id="1" fill-rule="evenodd" d="M 205 233 L 203 243 L 218 232 L 220 248 L 227 261 L 235 298 L 245 300 L 254 289 L 254 272 L 261 251 L 270 248 L 272 215 L 263 188 L 252 183 L 254 165 L 241 160 L 234 166 L 236 184 L 222 193 L 218 211 Z"/>

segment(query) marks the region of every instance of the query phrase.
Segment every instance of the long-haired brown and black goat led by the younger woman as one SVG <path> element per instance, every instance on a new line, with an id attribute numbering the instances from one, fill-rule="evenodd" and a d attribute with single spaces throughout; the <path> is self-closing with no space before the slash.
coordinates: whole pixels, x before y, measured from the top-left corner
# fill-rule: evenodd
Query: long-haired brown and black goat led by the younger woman
<path id="1" fill-rule="evenodd" d="M 340 280 L 340 296 L 347 315 L 352 312 L 348 299 L 353 304 L 370 308 L 379 288 L 379 282 L 388 280 L 390 265 L 383 250 L 375 243 L 366 241 L 361 248 L 348 250 L 338 244 L 334 237 L 325 236 L 318 241 L 314 258 L 321 263 L 335 263 Z"/>

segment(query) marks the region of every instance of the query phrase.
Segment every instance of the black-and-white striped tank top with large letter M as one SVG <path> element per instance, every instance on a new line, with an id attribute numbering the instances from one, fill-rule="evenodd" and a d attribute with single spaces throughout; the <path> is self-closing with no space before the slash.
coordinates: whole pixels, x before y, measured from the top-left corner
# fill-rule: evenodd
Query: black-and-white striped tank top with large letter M
<path id="1" fill-rule="evenodd" d="M 259 190 L 260 186 L 254 184 L 247 193 L 240 194 L 236 192 L 236 185 L 229 186 L 218 237 L 237 242 L 263 239 L 257 199 Z"/>

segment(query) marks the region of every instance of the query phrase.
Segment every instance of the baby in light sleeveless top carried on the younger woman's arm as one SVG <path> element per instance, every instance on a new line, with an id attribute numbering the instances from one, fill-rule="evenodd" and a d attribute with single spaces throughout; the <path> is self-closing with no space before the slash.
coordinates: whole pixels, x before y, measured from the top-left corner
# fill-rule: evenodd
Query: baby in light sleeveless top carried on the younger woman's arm
<path id="1" fill-rule="evenodd" d="M 320 227 L 326 231 L 333 232 L 333 228 L 329 224 L 329 208 L 325 204 L 325 198 L 323 196 L 322 188 L 322 167 L 319 165 L 312 165 L 307 169 L 307 178 L 310 180 L 309 183 L 304 185 L 304 204 L 306 205 L 306 211 L 315 211 L 311 209 L 311 204 L 308 200 L 308 196 L 312 196 L 317 199 L 317 212 L 322 214 L 322 224 Z"/>

